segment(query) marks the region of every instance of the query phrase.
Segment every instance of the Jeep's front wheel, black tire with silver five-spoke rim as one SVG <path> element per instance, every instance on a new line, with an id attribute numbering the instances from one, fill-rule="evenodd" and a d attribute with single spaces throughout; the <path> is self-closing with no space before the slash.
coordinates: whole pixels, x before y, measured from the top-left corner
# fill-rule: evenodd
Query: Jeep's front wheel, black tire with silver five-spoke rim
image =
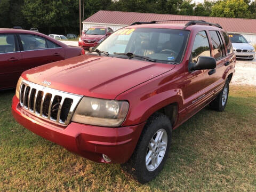
<path id="1" fill-rule="evenodd" d="M 162 139 L 156 142 L 158 136 Z M 153 180 L 163 169 L 164 163 L 168 157 L 171 137 L 172 125 L 170 119 L 163 114 L 151 116 L 140 135 L 132 157 L 124 164 L 125 171 L 130 173 L 133 178 L 137 179 L 142 184 Z M 155 144 L 153 144 L 152 139 Z M 164 145 L 166 142 L 167 145 Z M 161 146 L 161 143 L 163 146 Z M 150 161 L 152 156 L 156 161 Z M 146 158 L 148 159 L 148 165 L 146 165 Z M 155 167 L 153 165 L 155 165 Z"/>

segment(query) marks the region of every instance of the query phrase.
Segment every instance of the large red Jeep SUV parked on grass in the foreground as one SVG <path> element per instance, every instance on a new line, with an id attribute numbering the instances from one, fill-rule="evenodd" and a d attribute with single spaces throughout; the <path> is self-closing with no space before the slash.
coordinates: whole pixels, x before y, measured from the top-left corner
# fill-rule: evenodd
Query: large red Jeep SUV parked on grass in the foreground
<path id="1" fill-rule="evenodd" d="M 12 113 L 92 161 L 128 161 L 145 183 L 162 170 L 172 130 L 206 105 L 224 110 L 235 62 L 217 24 L 137 22 L 86 55 L 23 73 Z"/>

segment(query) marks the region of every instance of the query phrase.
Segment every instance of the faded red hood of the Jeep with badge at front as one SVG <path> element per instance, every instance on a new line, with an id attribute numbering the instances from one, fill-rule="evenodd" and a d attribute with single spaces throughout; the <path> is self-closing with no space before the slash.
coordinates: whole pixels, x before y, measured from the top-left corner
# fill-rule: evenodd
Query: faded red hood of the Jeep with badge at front
<path id="1" fill-rule="evenodd" d="M 118 94 L 161 75 L 175 66 L 95 55 L 49 63 L 22 74 L 27 81 L 88 97 L 115 99 Z"/>

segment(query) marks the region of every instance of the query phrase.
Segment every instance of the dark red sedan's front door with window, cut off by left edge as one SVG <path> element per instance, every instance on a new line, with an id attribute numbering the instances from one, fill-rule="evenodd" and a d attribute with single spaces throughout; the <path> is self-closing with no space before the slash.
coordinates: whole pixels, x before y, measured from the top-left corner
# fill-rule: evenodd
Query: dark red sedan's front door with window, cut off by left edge
<path id="1" fill-rule="evenodd" d="M 15 34 L 0 34 L 0 89 L 17 84 L 22 67 L 22 55 Z"/>

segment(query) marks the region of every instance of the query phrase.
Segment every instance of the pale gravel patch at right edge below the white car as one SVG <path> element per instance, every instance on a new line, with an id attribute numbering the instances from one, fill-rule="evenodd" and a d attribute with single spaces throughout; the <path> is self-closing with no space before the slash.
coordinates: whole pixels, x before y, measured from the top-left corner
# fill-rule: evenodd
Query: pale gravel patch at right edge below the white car
<path id="1" fill-rule="evenodd" d="M 256 62 L 238 60 L 231 85 L 256 86 Z"/>

